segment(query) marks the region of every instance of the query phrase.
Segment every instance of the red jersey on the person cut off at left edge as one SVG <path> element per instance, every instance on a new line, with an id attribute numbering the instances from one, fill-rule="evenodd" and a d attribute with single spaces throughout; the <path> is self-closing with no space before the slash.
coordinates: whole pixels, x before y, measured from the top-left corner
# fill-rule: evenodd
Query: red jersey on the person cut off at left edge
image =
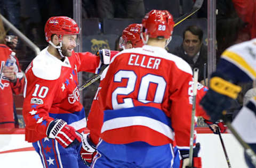
<path id="1" fill-rule="evenodd" d="M 0 44 L 0 128 L 14 128 L 14 115 L 13 115 L 13 93 L 18 95 L 22 92 L 24 84 L 24 75 L 20 70 L 20 65 L 18 59 L 15 59 L 14 72 L 17 75 L 17 82 L 10 82 L 3 75 L 3 68 L 5 66 L 6 60 L 11 58 L 10 55 L 12 50 L 4 44 Z"/>

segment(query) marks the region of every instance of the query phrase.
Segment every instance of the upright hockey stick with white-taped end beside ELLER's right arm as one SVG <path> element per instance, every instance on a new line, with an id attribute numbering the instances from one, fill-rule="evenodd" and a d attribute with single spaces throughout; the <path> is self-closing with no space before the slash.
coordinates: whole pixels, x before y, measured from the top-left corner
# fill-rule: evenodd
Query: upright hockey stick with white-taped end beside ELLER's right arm
<path id="1" fill-rule="evenodd" d="M 189 167 L 193 167 L 193 145 L 194 145 L 194 129 L 195 129 L 198 71 L 199 71 L 198 68 L 194 69 L 193 105 L 192 105 L 192 114 L 191 114 L 190 142 L 189 142 Z"/>

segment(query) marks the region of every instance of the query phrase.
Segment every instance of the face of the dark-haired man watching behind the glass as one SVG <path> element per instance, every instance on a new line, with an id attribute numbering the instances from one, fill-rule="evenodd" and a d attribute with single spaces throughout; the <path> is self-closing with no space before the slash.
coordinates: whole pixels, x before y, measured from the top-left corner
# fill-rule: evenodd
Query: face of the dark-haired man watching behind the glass
<path id="1" fill-rule="evenodd" d="M 198 36 L 193 35 L 190 31 L 185 32 L 183 48 L 189 56 L 195 56 L 200 51 L 201 45 L 202 43 Z"/>

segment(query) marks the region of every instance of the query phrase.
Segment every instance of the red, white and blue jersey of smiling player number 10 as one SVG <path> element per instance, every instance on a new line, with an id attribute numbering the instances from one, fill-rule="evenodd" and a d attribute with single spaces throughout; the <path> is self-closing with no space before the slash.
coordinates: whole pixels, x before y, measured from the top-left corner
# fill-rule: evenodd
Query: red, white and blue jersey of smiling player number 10
<path id="1" fill-rule="evenodd" d="M 62 62 L 47 52 L 47 48 L 34 58 L 26 70 L 22 111 L 27 141 L 35 142 L 46 137 L 47 125 L 53 119 L 65 120 L 68 124 L 84 119 L 77 72 L 96 73 L 100 64 L 100 57 L 74 51 Z"/>

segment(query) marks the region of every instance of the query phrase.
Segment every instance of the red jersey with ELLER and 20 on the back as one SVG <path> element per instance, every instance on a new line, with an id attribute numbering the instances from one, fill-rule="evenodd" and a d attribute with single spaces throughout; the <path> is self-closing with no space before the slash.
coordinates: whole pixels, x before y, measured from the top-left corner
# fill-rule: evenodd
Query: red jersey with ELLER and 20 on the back
<path id="1" fill-rule="evenodd" d="M 193 79 L 185 61 L 145 45 L 116 55 L 102 78 L 103 140 L 159 146 L 175 137 L 179 148 L 189 148 Z"/>

